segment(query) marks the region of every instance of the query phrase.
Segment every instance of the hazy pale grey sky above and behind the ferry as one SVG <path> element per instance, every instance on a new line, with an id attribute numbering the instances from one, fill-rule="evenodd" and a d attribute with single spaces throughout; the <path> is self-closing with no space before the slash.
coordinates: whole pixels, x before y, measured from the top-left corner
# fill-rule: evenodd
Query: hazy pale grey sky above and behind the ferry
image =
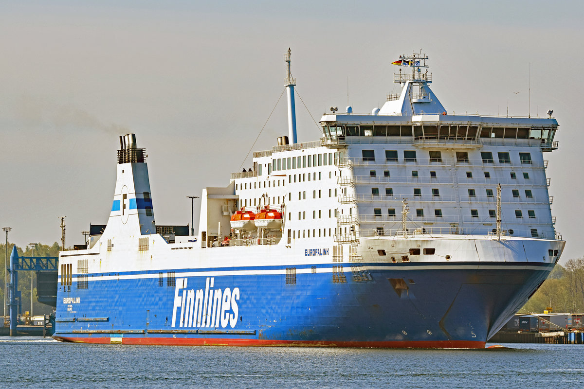
<path id="1" fill-rule="evenodd" d="M 297 91 L 318 121 L 331 105 L 370 112 L 398 92 L 390 63 L 425 52 L 433 90 L 455 113 L 527 115 L 552 108 L 552 213 L 584 255 L 581 2 L 55 1 L 0 3 L 0 225 L 19 246 L 82 243 L 105 223 L 118 136 L 150 155 L 157 223 L 190 222 L 190 200 L 223 186 L 284 85 L 292 48 Z M 519 94 L 513 92 L 520 91 Z M 299 141 L 319 136 L 297 99 Z M 285 96 L 256 150 L 287 134 Z M 251 158 L 245 166 L 251 165 Z M 196 204 L 197 205 L 197 204 Z M 198 219 L 196 209 L 196 220 Z M 198 223 L 195 222 L 195 226 Z M 2 239 L 4 240 L 4 239 Z"/>

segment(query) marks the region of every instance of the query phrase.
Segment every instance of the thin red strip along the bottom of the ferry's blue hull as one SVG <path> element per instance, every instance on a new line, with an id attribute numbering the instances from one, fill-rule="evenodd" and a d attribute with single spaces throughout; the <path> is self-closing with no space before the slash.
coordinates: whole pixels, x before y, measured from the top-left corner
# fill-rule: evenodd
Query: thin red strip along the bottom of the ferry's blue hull
<path id="1" fill-rule="evenodd" d="M 361 347 L 361 348 L 456 348 L 482 349 L 481 341 L 391 341 L 391 342 L 333 342 L 333 341 L 278 341 L 270 339 L 203 339 L 203 338 L 123 338 L 123 337 L 54 337 L 62 342 L 158 345 L 158 346 L 293 346 L 293 347 Z"/>

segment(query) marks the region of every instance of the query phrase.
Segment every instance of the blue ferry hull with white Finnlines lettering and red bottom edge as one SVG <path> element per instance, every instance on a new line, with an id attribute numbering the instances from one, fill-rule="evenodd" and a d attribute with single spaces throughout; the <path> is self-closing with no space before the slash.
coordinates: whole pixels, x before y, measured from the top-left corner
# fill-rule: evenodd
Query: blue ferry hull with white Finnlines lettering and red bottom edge
<path id="1" fill-rule="evenodd" d="M 59 286 L 54 337 L 123 344 L 482 348 L 554 267 L 359 265 L 360 271 L 343 274 L 331 272 L 331 265 L 308 265 L 308 273 L 298 267 L 294 279 L 265 274 L 281 267 L 173 269 L 175 280 L 159 279 L 158 271 L 89 274 L 87 289 L 78 289 L 79 281 Z M 235 275 L 221 275 L 226 270 Z M 215 299 L 213 290 L 220 290 Z"/>

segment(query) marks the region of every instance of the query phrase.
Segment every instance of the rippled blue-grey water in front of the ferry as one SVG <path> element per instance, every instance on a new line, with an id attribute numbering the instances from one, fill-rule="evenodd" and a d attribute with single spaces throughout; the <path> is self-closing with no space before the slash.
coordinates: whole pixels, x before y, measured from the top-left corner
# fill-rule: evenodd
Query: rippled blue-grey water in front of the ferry
<path id="1" fill-rule="evenodd" d="M 584 345 L 480 351 L 65 344 L 0 337 L 0 388 L 576 388 Z"/>

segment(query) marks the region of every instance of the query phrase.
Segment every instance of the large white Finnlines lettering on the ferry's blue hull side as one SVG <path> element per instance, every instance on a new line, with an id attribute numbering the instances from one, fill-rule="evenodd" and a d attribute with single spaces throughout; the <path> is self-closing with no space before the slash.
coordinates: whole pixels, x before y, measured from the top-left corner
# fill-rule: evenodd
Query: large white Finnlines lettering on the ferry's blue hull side
<path id="1" fill-rule="evenodd" d="M 214 283 L 214 277 L 207 277 L 205 289 L 194 290 L 187 289 L 187 278 L 176 279 L 172 327 L 177 327 L 177 320 L 178 327 L 235 327 L 239 288 L 213 289 Z"/>

